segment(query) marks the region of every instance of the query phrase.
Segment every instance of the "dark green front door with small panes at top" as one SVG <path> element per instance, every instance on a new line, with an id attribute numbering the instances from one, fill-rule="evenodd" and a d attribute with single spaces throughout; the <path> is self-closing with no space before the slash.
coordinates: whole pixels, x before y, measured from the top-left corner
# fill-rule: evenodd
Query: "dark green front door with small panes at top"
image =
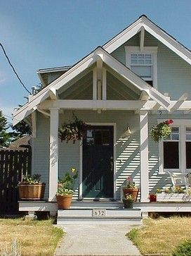
<path id="1" fill-rule="evenodd" d="M 113 126 L 91 126 L 83 140 L 83 197 L 113 197 Z"/>

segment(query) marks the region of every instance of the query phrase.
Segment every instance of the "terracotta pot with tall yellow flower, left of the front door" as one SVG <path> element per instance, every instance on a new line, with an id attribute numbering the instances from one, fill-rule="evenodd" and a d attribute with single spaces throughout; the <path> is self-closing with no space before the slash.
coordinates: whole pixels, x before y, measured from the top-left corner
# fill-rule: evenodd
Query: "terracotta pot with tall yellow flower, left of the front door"
<path id="1" fill-rule="evenodd" d="M 72 195 L 74 193 L 74 182 L 78 177 L 76 169 L 72 168 L 71 173 L 65 173 L 64 178 L 58 180 L 58 192 L 56 199 L 58 209 L 69 209 L 72 202 Z"/>

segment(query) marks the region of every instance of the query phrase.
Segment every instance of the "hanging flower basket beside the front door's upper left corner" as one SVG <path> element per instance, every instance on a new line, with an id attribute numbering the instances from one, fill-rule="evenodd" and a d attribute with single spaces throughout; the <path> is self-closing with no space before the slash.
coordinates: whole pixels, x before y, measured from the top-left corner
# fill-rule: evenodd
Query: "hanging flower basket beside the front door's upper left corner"
<path id="1" fill-rule="evenodd" d="M 69 142 L 72 140 L 75 143 L 77 140 L 81 140 L 86 135 L 86 131 L 91 127 L 84 121 L 73 116 L 74 121 L 70 123 L 62 124 L 61 128 L 58 129 L 58 137 L 61 141 L 66 140 Z"/>

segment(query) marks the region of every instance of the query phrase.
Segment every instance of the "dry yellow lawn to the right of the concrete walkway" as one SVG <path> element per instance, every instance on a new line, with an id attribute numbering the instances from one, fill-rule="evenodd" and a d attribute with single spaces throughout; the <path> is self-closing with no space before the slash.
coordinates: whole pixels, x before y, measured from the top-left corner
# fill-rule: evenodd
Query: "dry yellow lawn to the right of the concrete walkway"
<path id="1" fill-rule="evenodd" d="M 191 238 L 191 217 L 145 219 L 142 228 L 133 228 L 127 236 L 140 252 L 171 254 L 180 241 Z"/>

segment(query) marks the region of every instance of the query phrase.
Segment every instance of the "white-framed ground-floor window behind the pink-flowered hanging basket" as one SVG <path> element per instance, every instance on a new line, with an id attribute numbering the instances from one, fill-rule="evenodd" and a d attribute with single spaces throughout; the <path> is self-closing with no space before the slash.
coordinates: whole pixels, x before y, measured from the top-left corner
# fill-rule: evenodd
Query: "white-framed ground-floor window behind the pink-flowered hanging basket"
<path id="1" fill-rule="evenodd" d="M 159 142 L 159 173 L 190 170 L 191 120 L 175 119 L 171 136 Z"/>

